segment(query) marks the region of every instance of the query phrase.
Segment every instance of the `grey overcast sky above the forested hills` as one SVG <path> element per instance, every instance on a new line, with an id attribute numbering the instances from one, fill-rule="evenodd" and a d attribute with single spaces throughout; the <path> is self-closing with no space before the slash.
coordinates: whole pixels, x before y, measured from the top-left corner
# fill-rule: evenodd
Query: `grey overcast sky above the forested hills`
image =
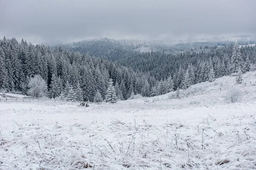
<path id="1" fill-rule="evenodd" d="M 0 0 L 0 38 L 187 41 L 256 33 L 256 0 Z"/>

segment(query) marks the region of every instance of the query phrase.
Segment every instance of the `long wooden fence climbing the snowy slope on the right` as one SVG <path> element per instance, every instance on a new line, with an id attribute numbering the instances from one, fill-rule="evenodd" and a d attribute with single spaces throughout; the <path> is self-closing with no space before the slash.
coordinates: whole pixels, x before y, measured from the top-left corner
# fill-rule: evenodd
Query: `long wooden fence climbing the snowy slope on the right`
<path id="1" fill-rule="evenodd" d="M 251 84 L 251 83 L 256 83 L 256 82 L 246 82 L 244 84 L 228 85 L 228 86 L 222 87 L 222 88 L 215 88 L 215 89 L 208 90 L 208 91 L 200 91 L 200 92 L 193 93 L 193 94 L 187 94 L 187 95 L 179 96 L 179 97 L 172 97 L 172 98 L 169 98 L 169 99 L 166 98 L 166 99 L 161 99 L 161 100 L 157 100 L 157 101 L 153 101 L 153 102 L 148 102 L 148 103 L 160 102 L 160 101 L 163 101 L 163 100 L 170 100 L 170 99 L 184 99 L 184 98 L 187 98 L 187 97 L 192 97 L 192 96 L 198 96 L 198 95 L 202 95 L 202 94 L 211 93 L 212 91 L 227 90 L 229 88 L 233 88 L 233 87 L 240 86 L 240 85 L 246 86 L 246 85 Z"/>

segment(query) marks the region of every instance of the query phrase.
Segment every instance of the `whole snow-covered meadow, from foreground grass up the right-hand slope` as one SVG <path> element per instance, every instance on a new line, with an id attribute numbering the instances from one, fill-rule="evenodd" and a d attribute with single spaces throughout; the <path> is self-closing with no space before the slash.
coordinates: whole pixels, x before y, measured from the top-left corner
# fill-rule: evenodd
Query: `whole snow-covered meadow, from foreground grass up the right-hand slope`
<path id="1" fill-rule="evenodd" d="M 256 82 L 256 72 L 244 82 Z M 181 94 L 235 85 L 236 77 Z M 175 92 L 116 104 L 0 102 L 0 169 L 256 169 L 256 84 L 168 99 Z M 154 103 L 149 103 L 155 101 Z"/>

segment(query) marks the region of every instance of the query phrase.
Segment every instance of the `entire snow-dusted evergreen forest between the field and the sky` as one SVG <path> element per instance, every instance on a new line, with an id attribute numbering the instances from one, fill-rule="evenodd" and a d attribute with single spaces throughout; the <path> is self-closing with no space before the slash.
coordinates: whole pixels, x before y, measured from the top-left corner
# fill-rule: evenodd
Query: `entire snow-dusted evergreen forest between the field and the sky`
<path id="1" fill-rule="evenodd" d="M 0 40 L 0 91 L 38 97 L 31 89 L 40 84 L 49 98 L 116 102 L 134 94 L 156 96 L 255 70 L 255 45 L 216 43 L 167 51 L 167 45 L 160 48 L 157 42 L 101 39 L 50 48 L 4 37 Z M 139 50 L 150 45 L 161 50 Z"/>

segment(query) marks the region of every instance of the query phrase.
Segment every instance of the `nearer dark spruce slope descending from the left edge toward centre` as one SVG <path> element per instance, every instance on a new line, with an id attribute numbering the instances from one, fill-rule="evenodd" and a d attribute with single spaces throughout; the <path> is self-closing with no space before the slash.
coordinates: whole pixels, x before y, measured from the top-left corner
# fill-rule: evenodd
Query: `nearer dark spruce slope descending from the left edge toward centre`
<path id="1" fill-rule="evenodd" d="M 153 77 L 87 54 L 15 38 L 0 40 L 0 90 L 27 94 L 35 75 L 46 82 L 50 98 L 79 101 L 93 101 L 97 92 L 105 99 L 111 79 L 119 99 L 141 94 L 145 82 L 156 84 Z"/>

